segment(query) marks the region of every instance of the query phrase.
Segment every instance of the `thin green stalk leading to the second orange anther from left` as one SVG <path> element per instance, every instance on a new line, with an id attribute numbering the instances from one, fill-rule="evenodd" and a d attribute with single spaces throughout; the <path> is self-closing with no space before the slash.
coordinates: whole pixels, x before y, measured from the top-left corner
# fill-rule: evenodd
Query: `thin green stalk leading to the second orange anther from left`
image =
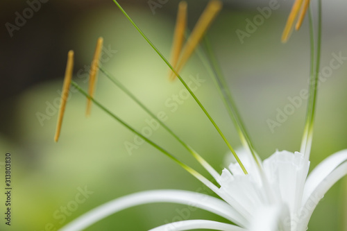
<path id="1" fill-rule="evenodd" d="M 211 176 L 213 176 L 213 178 L 215 180 L 217 180 L 217 182 L 219 181 L 219 174 L 217 173 L 216 170 L 213 169 L 212 166 L 210 166 L 210 164 L 208 164 L 207 161 L 205 161 L 203 159 L 203 157 L 201 157 L 201 155 L 199 155 L 196 151 L 194 151 L 193 148 L 191 148 L 188 144 L 186 144 L 185 142 L 183 142 L 182 139 L 180 139 L 180 137 L 178 137 L 178 135 L 176 135 L 169 127 L 167 127 L 165 125 L 165 123 L 163 123 L 162 121 L 160 121 L 160 119 L 158 119 L 157 117 L 155 117 L 155 114 L 153 114 L 153 112 L 151 112 L 151 110 L 149 110 L 141 101 L 139 101 L 139 99 L 137 99 L 136 96 L 134 96 L 133 93 L 131 93 L 124 85 L 122 85 L 115 77 L 113 77 L 108 71 L 105 71 L 105 69 L 99 67 L 100 71 L 105 74 L 105 76 L 111 80 L 112 83 L 114 83 L 115 85 L 117 85 L 117 87 L 119 87 L 119 89 L 121 89 L 123 92 L 125 92 L 131 99 L 133 99 L 133 101 L 135 101 L 145 112 L 147 112 L 155 121 L 157 121 L 160 126 L 162 126 L 165 130 L 167 130 L 167 132 L 169 132 L 170 135 L 172 135 L 183 147 L 185 147 L 185 149 L 187 149 L 187 151 L 211 174 Z"/>

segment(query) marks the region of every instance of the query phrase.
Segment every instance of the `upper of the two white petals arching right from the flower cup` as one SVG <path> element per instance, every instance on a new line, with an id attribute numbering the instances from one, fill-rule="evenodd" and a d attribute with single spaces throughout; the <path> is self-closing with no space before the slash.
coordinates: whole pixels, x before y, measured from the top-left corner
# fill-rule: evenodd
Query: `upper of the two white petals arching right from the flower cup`
<path id="1" fill-rule="evenodd" d="M 307 177 L 303 192 L 303 204 L 306 203 L 314 189 L 332 172 L 334 169 L 347 161 L 347 149 L 334 153 L 323 160 L 314 168 Z"/>

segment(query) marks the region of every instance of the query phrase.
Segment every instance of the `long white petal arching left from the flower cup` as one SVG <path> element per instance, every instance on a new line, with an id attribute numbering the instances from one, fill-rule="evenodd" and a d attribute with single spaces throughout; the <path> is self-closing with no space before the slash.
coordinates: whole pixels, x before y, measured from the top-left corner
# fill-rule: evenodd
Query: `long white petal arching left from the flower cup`
<path id="1" fill-rule="evenodd" d="M 61 228 L 60 231 L 83 230 L 115 212 L 148 203 L 180 203 L 189 207 L 198 207 L 213 212 L 237 225 L 245 226 L 247 224 L 246 220 L 228 205 L 228 203 L 213 196 L 183 190 L 153 190 L 142 191 L 111 200 L 83 214 L 78 219 L 71 221 L 71 223 Z"/>

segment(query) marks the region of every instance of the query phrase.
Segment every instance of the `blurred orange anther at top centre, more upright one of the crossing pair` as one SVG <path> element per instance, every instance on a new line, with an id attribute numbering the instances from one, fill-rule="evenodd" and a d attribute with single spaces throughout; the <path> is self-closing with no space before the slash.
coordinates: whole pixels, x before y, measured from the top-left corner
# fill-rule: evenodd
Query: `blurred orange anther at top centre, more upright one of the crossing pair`
<path id="1" fill-rule="evenodd" d="M 178 13 L 176 19 L 176 28 L 174 33 L 174 42 L 172 44 L 171 50 L 171 65 L 172 67 L 176 67 L 178 58 L 180 57 L 180 53 L 183 47 L 183 40 L 185 38 L 185 28 L 187 27 L 187 2 L 181 1 L 178 5 Z M 174 80 L 174 72 L 169 69 L 169 78 L 170 80 Z"/>

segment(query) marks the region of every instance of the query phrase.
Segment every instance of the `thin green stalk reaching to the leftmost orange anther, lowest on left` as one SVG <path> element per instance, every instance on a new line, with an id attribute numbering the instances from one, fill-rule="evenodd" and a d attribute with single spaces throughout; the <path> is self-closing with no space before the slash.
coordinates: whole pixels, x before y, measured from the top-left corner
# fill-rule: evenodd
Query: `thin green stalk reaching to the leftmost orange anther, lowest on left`
<path id="1" fill-rule="evenodd" d="M 206 179 L 205 177 L 203 177 L 200 173 L 198 173 L 197 171 L 195 171 L 194 169 L 192 169 L 190 166 L 188 166 L 187 164 L 181 162 L 180 160 L 178 160 L 177 157 L 175 157 L 174 155 L 172 155 L 171 153 L 169 153 L 169 151 L 166 151 L 164 148 L 162 148 L 161 146 L 159 146 L 158 144 L 155 144 L 155 142 L 151 141 L 151 139 L 148 139 L 147 137 L 145 137 L 144 135 L 142 135 L 140 132 L 137 132 L 137 130 L 135 130 L 133 127 L 129 126 L 128 123 L 126 123 L 125 121 L 123 121 L 122 119 L 120 119 L 119 117 L 117 117 L 117 115 L 113 114 L 112 112 L 110 112 L 110 110 L 108 110 L 107 108 L 105 108 L 103 105 L 101 105 L 101 103 L 99 103 L 98 101 L 96 101 L 94 98 L 92 98 L 92 96 L 90 96 L 89 94 L 87 94 L 87 92 L 85 92 L 77 83 L 75 83 L 74 81 L 71 81 L 71 85 L 73 85 L 74 87 L 76 87 L 76 89 L 78 90 L 78 92 L 80 92 L 81 94 L 83 94 L 85 97 L 87 97 L 87 99 L 90 99 L 96 106 L 98 106 L 101 110 L 103 110 L 106 114 L 110 115 L 110 117 L 112 117 L 113 119 L 116 119 L 119 123 L 121 123 L 123 126 L 125 126 L 126 128 L 128 128 L 128 130 L 130 130 L 131 132 L 135 133 L 136 135 L 138 135 L 140 138 L 144 139 L 144 141 L 146 141 L 148 144 L 151 144 L 151 146 L 153 146 L 154 148 L 158 149 L 158 151 L 160 151 L 161 153 L 163 153 L 164 155 L 167 155 L 167 157 L 169 157 L 171 160 L 174 160 L 174 162 L 176 162 L 178 165 L 180 165 L 181 167 L 183 167 L 183 169 L 185 169 L 186 171 L 188 171 L 189 173 L 191 173 L 195 178 L 197 178 L 198 180 L 200 180 L 201 182 L 203 182 L 203 184 L 207 185 L 208 187 L 210 187 L 210 189 L 212 189 L 214 191 L 214 189 L 216 188 L 215 185 L 212 184 L 212 182 L 210 182 L 210 180 Z"/>

